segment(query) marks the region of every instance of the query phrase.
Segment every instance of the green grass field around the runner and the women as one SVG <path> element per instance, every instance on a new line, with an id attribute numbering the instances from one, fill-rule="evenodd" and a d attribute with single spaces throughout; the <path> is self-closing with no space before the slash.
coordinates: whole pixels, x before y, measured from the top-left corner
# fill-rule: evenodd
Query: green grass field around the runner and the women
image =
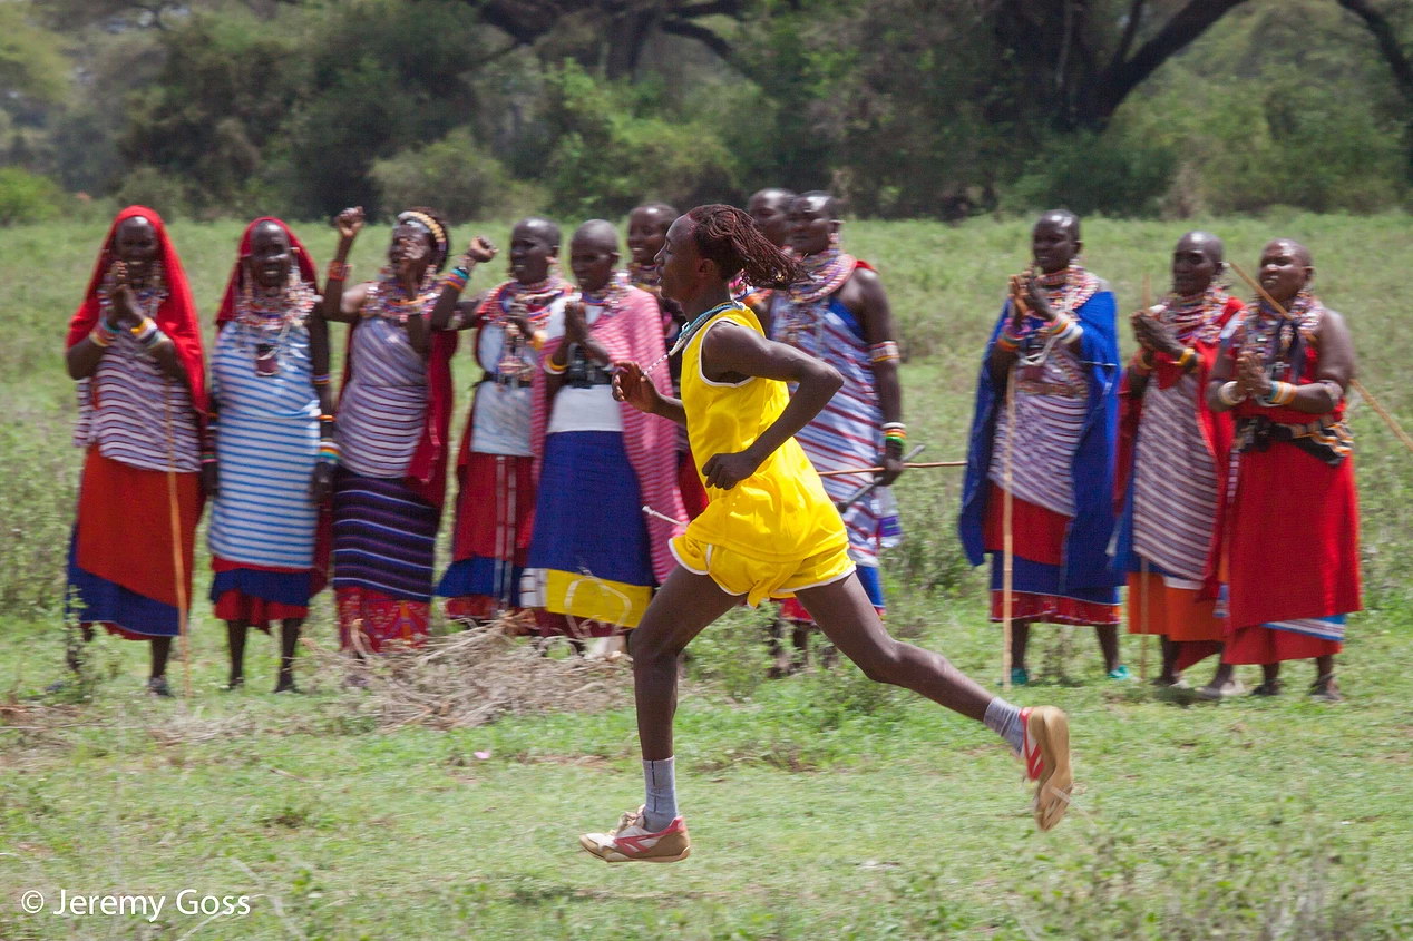
<path id="1" fill-rule="evenodd" d="M 1395 302 L 1413 261 L 1409 222 L 1210 227 L 1248 268 L 1270 236 L 1307 242 L 1317 290 L 1352 324 L 1364 381 L 1413 425 L 1413 341 Z M 240 226 L 172 229 L 209 316 Z M 502 243 L 504 230 L 487 229 Z M 1145 276 L 1166 287 L 1181 230 L 1095 220 L 1087 261 L 1130 309 Z M 62 668 L 78 452 L 59 350 L 102 232 L 0 230 L 0 938 L 1413 935 L 1413 455 L 1364 404 L 1368 610 L 1341 657 L 1348 702 L 1304 701 L 1306 664 L 1291 664 L 1277 699 L 1161 699 L 1104 680 L 1085 632 L 1040 629 L 1039 682 L 1016 699 L 1071 712 L 1080 779 L 1051 834 L 1034 831 L 1019 767 L 988 730 L 851 667 L 763 681 L 762 615 L 745 612 L 692 647 L 677 752 L 695 849 L 675 866 L 609 868 L 575 841 L 642 797 L 626 668 L 609 709 L 387 729 L 377 697 L 341 691 L 329 657 L 302 657 L 311 695 L 268 695 L 274 651 L 260 637 L 250 688 L 219 692 L 223 630 L 198 603 L 191 699 L 148 699 L 146 646 L 113 639 L 93 647 L 90 701 L 31 699 Z M 927 458 L 961 456 L 978 353 L 1026 232 L 991 220 L 845 229 L 889 285 L 911 357 L 907 418 Z M 331 235 L 302 233 L 326 259 Z M 370 229 L 362 273 L 382 244 Z M 458 367 L 469 374 L 465 355 Z M 900 483 L 909 540 L 889 568 L 890 626 L 993 682 L 999 632 L 957 547 L 957 489 L 955 470 Z M 1273 541 L 1272 567 L 1289 551 Z M 309 636 L 335 646 L 328 596 Z M 1136 667 L 1137 641 L 1125 653 Z M 184 673 L 172 665 L 177 685 Z M 21 910 L 30 890 L 45 911 Z M 61 890 L 165 903 L 154 921 L 59 917 Z M 202 896 L 249 896 L 250 911 L 177 910 Z"/>

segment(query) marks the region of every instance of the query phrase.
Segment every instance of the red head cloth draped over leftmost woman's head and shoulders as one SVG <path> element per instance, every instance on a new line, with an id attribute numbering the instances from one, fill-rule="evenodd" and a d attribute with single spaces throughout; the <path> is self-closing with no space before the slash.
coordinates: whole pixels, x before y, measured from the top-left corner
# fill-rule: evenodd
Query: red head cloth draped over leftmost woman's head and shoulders
<path id="1" fill-rule="evenodd" d="M 201 325 L 196 322 L 196 305 L 191 300 L 191 285 L 187 284 L 187 273 L 177 257 L 167 236 L 167 225 L 154 209 L 147 206 L 129 206 L 113 218 L 107 237 L 103 239 L 103 249 L 97 253 L 93 264 L 93 274 L 89 277 L 88 290 L 83 292 L 83 302 L 73 312 L 69 321 L 69 335 L 64 342 L 64 349 L 69 349 L 97 325 L 100 304 L 97 290 L 103 284 L 103 277 L 117 260 L 113 243 L 117 239 L 117 227 L 126 220 L 141 216 L 153 223 L 157 232 L 157 257 L 162 263 L 162 278 L 167 281 L 167 300 L 157 308 L 157 326 L 167 333 L 177 350 L 177 360 L 187 373 L 187 389 L 191 391 L 191 404 L 196 410 L 196 418 L 203 428 L 206 424 L 206 370 L 201 345 Z"/>

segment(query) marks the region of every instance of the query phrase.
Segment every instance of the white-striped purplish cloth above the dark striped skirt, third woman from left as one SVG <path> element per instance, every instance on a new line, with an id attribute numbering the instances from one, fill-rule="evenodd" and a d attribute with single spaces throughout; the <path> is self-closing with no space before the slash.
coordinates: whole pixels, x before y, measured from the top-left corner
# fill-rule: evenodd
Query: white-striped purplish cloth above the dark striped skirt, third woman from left
<path id="1" fill-rule="evenodd" d="M 407 475 L 427 415 L 427 360 L 382 316 L 353 328 L 353 377 L 339 398 L 339 461 L 367 478 Z"/>

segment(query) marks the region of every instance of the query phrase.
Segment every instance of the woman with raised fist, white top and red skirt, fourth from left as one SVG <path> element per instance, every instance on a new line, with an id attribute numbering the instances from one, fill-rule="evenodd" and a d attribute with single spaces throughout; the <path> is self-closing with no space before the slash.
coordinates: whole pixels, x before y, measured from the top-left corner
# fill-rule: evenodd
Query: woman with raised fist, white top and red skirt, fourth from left
<path id="1" fill-rule="evenodd" d="M 534 519 L 533 387 L 544 383 L 540 350 L 564 332 L 564 298 L 572 291 L 554 270 L 558 253 L 557 225 L 521 219 L 510 233 L 512 280 L 447 321 L 449 329 L 476 328 L 482 369 L 456 461 L 452 564 L 437 586 L 447 615 L 458 620 L 521 606 Z"/>

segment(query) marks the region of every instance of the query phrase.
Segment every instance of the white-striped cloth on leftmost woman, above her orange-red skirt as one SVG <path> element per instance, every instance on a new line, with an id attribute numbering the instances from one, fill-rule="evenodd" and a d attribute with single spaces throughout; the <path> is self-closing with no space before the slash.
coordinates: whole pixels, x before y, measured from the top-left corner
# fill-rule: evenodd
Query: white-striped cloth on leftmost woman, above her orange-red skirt
<path id="1" fill-rule="evenodd" d="M 187 383 L 167 377 L 130 332 L 120 331 L 93 376 L 79 380 L 78 397 L 75 446 L 97 444 L 105 458 L 144 470 L 201 469 Z"/>

